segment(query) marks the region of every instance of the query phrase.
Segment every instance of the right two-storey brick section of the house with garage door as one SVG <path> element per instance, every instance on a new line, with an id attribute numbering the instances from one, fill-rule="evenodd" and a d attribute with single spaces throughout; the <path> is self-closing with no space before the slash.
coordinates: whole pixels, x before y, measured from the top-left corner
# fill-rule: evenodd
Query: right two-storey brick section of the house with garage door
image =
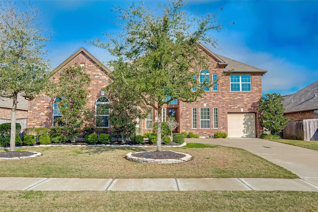
<path id="1" fill-rule="evenodd" d="M 201 43 L 199 45 L 211 65 L 208 70 L 201 70 L 196 78 L 199 82 L 208 78 L 216 84 L 206 89 L 203 98 L 197 102 L 189 104 L 175 100 L 163 107 L 162 121 L 174 116 L 179 123 L 175 132 L 193 132 L 201 137 L 214 135 L 217 131 L 226 132 L 229 137 L 262 134 L 257 106 L 262 97 L 261 76 L 267 71 L 214 54 Z M 158 115 L 153 111 L 143 120 L 144 128 L 147 128 L 147 122 L 156 119 Z"/>

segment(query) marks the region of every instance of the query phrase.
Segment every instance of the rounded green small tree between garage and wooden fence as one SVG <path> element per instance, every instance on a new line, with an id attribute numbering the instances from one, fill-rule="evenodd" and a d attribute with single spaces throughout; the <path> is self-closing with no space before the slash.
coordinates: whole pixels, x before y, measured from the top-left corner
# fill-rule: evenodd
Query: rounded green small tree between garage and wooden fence
<path id="1" fill-rule="evenodd" d="M 289 118 L 284 117 L 285 108 L 282 105 L 283 97 L 280 94 L 265 94 L 260 98 L 259 120 L 261 125 L 270 130 L 271 134 L 281 132 L 288 123 Z"/>

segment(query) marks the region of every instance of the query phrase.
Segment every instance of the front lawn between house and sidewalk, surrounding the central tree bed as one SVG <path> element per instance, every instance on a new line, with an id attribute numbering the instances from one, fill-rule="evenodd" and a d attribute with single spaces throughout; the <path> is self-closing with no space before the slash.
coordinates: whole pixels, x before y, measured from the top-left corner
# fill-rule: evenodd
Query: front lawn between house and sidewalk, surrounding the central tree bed
<path id="1" fill-rule="evenodd" d="M 22 150 L 41 152 L 40 157 L 0 161 L 0 177 L 298 178 L 292 172 L 242 149 L 207 144 L 169 149 L 188 153 L 193 160 L 178 164 L 145 164 L 125 159 L 128 152 L 155 148 L 37 147 Z"/>

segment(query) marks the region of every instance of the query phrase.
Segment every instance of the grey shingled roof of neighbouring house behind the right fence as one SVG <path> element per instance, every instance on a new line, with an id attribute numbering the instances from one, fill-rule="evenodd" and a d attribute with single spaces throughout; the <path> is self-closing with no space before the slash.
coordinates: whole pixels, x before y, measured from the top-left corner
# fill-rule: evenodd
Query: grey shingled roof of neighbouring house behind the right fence
<path id="1" fill-rule="evenodd" d="M 315 95 L 316 94 L 316 95 Z M 284 96 L 282 102 L 285 112 L 300 112 L 318 109 L 318 81 L 296 92 L 295 94 Z"/>

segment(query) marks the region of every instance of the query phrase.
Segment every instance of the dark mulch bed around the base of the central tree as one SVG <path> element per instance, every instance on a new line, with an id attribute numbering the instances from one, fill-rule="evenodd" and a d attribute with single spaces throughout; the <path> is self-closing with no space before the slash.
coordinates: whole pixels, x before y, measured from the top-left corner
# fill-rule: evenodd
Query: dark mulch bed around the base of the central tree
<path id="1" fill-rule="evenodd" d="M 185 154 L 181 153 L 176 153 L 170 150 L 165 150 L 165 151 L 149 151 L 149 152 L 139 152 L 139 153 L 134 153 L 132 154 L 134 157 L 139 157 L 139 158 L 149 158 L 149 159 L 180 159 L 185 157 Z"/>

